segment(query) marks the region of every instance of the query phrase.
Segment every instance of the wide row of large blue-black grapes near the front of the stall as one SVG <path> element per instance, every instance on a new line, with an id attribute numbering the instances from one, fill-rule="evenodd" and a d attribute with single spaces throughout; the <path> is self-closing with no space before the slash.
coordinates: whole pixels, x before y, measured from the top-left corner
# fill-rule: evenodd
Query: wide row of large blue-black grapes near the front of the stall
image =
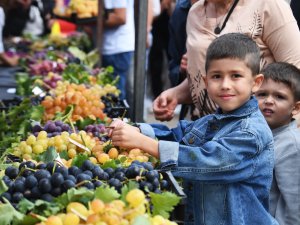
<path id="1" fill-rule="evenodd" d="M 30 201 L 43 199 L 51 201 L 73 187 L 95 189 L 107 184 L 118 192 L 124 183 L 135 180 L 143 191 L 160 193 L 167 190 L 169 183 L 162 179 L 151 163 L 134 161 L 128 168 L 106 168 L 85 160 L 81 167 L 69 168 L 55 162 L 41 163 L 37 166 L 32 161 L 22 162 L 19 167 L 9 166 L 5 170 L 2 180 L 8 190 L 1 195 L 13 204 L 22 198 Z"/>

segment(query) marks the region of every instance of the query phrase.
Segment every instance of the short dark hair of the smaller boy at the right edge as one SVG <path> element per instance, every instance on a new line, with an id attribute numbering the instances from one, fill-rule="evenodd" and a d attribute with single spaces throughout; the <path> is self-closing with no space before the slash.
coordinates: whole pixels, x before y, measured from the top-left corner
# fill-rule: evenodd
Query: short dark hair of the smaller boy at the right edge
<path id="1" fill-rule="evenodd" d="M 264 79 L 272 79 L 275 82 L 284 83 L 288 86 L 295 101 L 300 101 L 300 70 L 292 64 L 285 62 L 275 62 L 267 65 L 261 73 Z"/>

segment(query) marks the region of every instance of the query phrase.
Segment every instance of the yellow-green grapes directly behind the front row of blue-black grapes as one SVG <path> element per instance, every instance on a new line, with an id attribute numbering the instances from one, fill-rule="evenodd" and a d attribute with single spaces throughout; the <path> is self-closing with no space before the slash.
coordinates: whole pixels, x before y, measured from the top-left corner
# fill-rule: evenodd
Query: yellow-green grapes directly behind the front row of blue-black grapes
<path id="1" fill-rule="evenodd" d="M 86 152 L 91 155 L 91 149 L 96 145 L 96 140 L 90 137 L 85 131 L 77 133 L 62 132 L 61 135 L 48 138 L 46 131 L 40 131 L 35 137 L 30 135 L 26 140 L 21 141 L 13 148 L 13 154 L 25 160 L 35 159 L 39 154 L 45 152 L 49 147 L 55 147 L 57 152 L 67 151 L 70 160 L 66 163 L 69 166 L 72 159 L 78 154 Z M 92 158 L 93 162 L 96 160 Z"/>

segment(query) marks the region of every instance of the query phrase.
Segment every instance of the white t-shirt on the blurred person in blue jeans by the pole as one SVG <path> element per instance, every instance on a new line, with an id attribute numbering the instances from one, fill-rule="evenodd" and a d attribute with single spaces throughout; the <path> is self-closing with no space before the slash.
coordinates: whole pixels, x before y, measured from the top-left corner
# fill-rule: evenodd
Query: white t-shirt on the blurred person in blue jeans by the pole
<path id="1" fill-rule="evenodd" d="M 106 9 L 126 8 L 126 24 L 104 28 L 102 54 L 134 51 L 134 0 L 104 0 L 104 4 Z"/>

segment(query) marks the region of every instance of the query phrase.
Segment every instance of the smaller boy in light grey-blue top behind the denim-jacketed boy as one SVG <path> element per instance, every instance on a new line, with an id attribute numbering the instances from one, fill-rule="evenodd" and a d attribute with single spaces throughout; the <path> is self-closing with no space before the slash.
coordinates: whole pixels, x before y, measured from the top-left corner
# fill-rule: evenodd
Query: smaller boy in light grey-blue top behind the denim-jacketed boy
<path id="1" fill-rule="evenodd" d="M 300 70 L 272 63 L 262 73 L 255 95 L 272 129 L 275 153 L 270 213 L 280 225 L 300 224 L 300 130 L 293 119 L 300 112 Z"/>

